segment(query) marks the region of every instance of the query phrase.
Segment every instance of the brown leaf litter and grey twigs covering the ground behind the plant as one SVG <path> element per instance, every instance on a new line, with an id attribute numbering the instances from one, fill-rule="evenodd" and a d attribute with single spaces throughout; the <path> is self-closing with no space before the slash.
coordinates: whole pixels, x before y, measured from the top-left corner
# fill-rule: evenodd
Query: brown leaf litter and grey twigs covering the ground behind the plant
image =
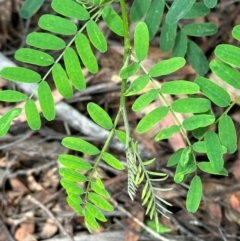
<path id="1" fill-rule="evenodd" d="M 13 55 L 16 49 L 24 47 L 27 33 L 37 31 L 37 20 L 42 13 L 51 11 L 49 1 L 29 21 L 18 17 L 19 6 L 22 0 L 15 0 L 16 5 L 10 1 L 0 1 L 1 16 L 1 53 L 0 68 L 11 66 L 14 63 Z M 214 46 L 219 43 L 232 43 L 239 45 L 231 36 L 233 26 L 240 23 L 239 1 L 220 1 L 218 7 L 206 19 L 197 21 L 212 21 L 219 27 L 219 32 L 213 37 L 198 38 L 197 43 L 204 50 L 208 59 L 214 58 Z M 240 239 L 240 158 L 239 148 L 234 155 L 225 156 L 225 166 L 229 170 L 228 177 L 216 177 L 201 174 L 204 180 L 204 199 L 196 214 L 190 214 L 185 209 L 185 198 L 188 183 L 176 185 L 173 182 L 174 169 L 166 169 L 165 164 L 173 150 L 185 145 L 180 135 L 175 135 L 169 142 L 154 143 L 152 137 L 159 128 L 172 123 L 169 116 L 145 135 L 136 133 L 134 127 L 139 118 L 159 105 L 152 103 L 141 113 L 132 113 L 131 104 L 134 99 L 127 102 L 129 107 L 129 120 L 134 138 L 142 146 L 142 154 L 156 156 L 154 170 L 169 173 L 164 187 L 172 187 L 171 192 L 160 193 L 162 198 L 173 204 L 170 209 L 170 219 L 160 217 L 160 222 L 168 231 L 162 236 L 151 236 L 142 232 L 148 218 L 144 217 L 144 208 L 141 206 L 139 193 L 135 202 L 131 202 L 127 194 L 127 173 L 117 172 L 112 168 L 101 165 L 99 173 L 104 180 L 108 191 L 112 194 L 115 211 L 108 214 L 108 222 L 101 225 L 101 229 L 90 235 L 84 227 L 82 218 L 74 216 L 73 211 L 66 203 L 65 192 L 59 185 L 57 157 L 67 150 L 60 144 L 61 139 L 67 135 L 81 136 L 99 147 L 104 143 L 106 131 L 96 129 L 86 115 L 86 103 L 93 101 L 102 105 L 111 116 L 116 115 L 119 101 L 120 79 L 119 69 L 122 64 L 122 42 L 115 35 L 108 32 L 103 23 L 99 23 L 109 40 L 109 50 L 105 54 L 97 53 L 100 71 L 96 76 L 90 75 L 86 70 L 88 81 L 87 89 L 81 93 L 76 92 L 74 98 L 65 101 L 53 90 L 57 104 L 57 118 L 47 123 L 43 120 L 43 127 L 38 132 L 30 131 L 24 119 L 15 122 L 10 133 L 0 139 L 0 241 L 3 240 L 239 240 Z M 66 39 L 68 40 L 68 39 Z M 166 59 L 169 54 L 162 53 L 158 48 L 159 39 L 151 42 L 149 56 L 144 65 L 148 68 L 152 64 Z M 57 53 L 53 53 L 55 56 Z M 37 69 L 41 74 L 46 69 Z M 215 81 L 218 79 L 209 73 L 208 76 Z M 163 82 L 170 79 L 193 80 L 194 70 L 186 65 L 181 71 L 159 79 Z M 51 79 L 49 78 L 49 82 Z M 0 87 L 22 89 L 31 92 L 28 86 L 13 85 L 0 80 Z M 228 87 L 225 87 L 228 88 Z M 232 98 L 239 93 L 228 89 Z M 10 104 L 0 103 L 0 111 L 4 113 Z M 222 109 L 215 108 L 215 113 L 221 114 Z M 235 121 L 239 133 L 240 116 L 239 106 L 234 107 L 231 116 Z M 85 117 L 86 115 L 86 117 Z M 184 118 L 184 116 L 179 116 Z M 120 121 L 119 128 L 123 128 Z M 239 135 L 238 135 L 239 136 Z M 124 149 L 117 143 L 112 143 L 111 151 L 125 162 Z M 85 156 L 85 158 L 90 159 Z M 201 158 L 201 157 L 200 157 Z M 204 158 L 204 157 L 203 157 Z M 91 160 L 90 161 L 94 161 Z M 133 220 L 135 218 L 135 221 Z M 146 228 L 146 226 L 145 226 Z M 69 233 L 69 234 L 68 234 Z"/>

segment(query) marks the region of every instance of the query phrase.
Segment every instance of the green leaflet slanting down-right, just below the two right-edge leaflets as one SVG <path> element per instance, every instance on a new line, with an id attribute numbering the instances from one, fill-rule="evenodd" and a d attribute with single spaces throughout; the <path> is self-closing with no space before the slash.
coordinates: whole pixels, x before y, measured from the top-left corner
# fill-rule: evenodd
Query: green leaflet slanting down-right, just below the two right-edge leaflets
<path id="1" fill-rule="evenodd" d="M 220 107 L 226 107 L 230 104 L 231 98 L 228 92 L 213 81 L 204 77 L 197 77 L 194 82 L 200 86 L 201 92 L 214 104 Z"/>

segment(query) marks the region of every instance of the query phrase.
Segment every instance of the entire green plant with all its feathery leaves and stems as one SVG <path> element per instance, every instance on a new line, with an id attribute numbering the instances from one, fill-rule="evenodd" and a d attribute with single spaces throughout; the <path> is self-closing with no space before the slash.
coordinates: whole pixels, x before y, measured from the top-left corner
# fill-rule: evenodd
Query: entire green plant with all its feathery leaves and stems
<path id="1" fill-rule="evenodd" d="M 24 18 L 31 17 L 43 2 L 26 0 L 21 15 Z M 129 35 L 125 1 L 120 1 L 122 15 L 113 8 L 113 2 L 53 0 L 51 7 L 54 13 L 42 15 L 38 22 L 40 32 L 30 33 L 26 38 L 26 43 L 30 47 L 21 48 L 15 53 L 16 60 L 27 63 L 30 67 L 6 67 L 0 71 L 0 76 L 14 82 L 36 84 L 35 92 L 38 94 L 43 117 L 50 121 L 55 118 L 55 104 L 51 88 L 46 81 L 47 77 L 52 77 L 56 89 L 64 98 L 71 98 L 75 89 L 86 89 L 82 66 L 84 65 L 92 74 L 98 73 L 95 50 L 106 52 L 108 49 L 107 40 L 98 27 L 98 20 L 103 19 L 111 31 L 121 39 L 123 37 L 124 63 L 119 73 L 122 78 L 122 91 L 117 116 L 112 118 L 102 106 L 93 102 L 86 106 L 90 118 L 109 131 L 106 142 L 99 147 L 83 138 L 65 137 L 62 145 L 73 150 L 74 154 L 61 154 L 58 158 L 59 175 L 62 177 L 60 183 L 67 192 L 68 204 L 78 215 L 84 217 L 86 227 L 89 230 L 98 229 L 99 221 L 107 221 L 103 211 L 113 211 L 109 200 L 111 194 L 106 190 L 97 172 L 99 163 L 103 161 L 116 170 L 125 168 L 108 150 L 111 139 L 116 135 L 126 149 L 129 196 L 134 199 L 136 192 L 141 190 L 146 215 L 160 228 L 158 214 L 167 215 L 169 211 L 165 205 L 170 203 L 158 196 L 156 191 L 168 190 L 158 185 L 168 176 L 151 170 L 150 165 L 154 163 L 154 158 L 142 160 L 138 143 L 130 135 L 126 98 L 131 96 L 133 99 L 133 96 L 136 96 L 132 105 L 134 112 L 147 108 L 155 100 L 161 100 L 162 106 L 156 107 L 139 120 L 136 126 L 139 133 L 156 127 L 156 124 L 161 123 L 168 114 L 173 116 L 175 123 L 159 130 L 154 141 L 166 140 L 176 133 L 181 133 L 184 137 L 187 146 L 172 154 L 167 167 L 175 168 L 173 179 L 176 183 L 188 182 L 192 178 L 186 208 L 189 212 L 196 212 L 202 198 L 199 172 L 227 176 L 223 155 L 234 153 L 237 149 L 236 130 L 229 111 L 239 97 L 231 100 L 226 89 L 204 75 L 210 67 L 222 81 L 235 89 L 240 89 L 240 48 L 229 44 L 216 46 L 215 54 L 218 59 L 212 60 L 209 64 L 201 48 L 191 40 L 191 36 L 211 36 L 218 31 L 214 23 L 192 23 L 192 19 L 206 16 L 217 4 L 217 0 L 175 0 L 169 5 L 163 0 L 134 0 L 129 12 L 131 22 L 136 23 L 133 36 Z M 162 19 L 164 11 L 165 20 Z M 78 28 L 73 19 L 81 21 L 82 27 Z M 182 19 L 188 19 L 190 22 L 185 24 Z M 172 56 L 146 68 L 144 60 L 148 55 L 149 41 L 159 32 L 160 49 L 171 53 Z M 240 26 L 234 27 L 232 35 L 236 40 L 240 40 Z M 70 39 L 67 44 L 64 36 Z M 131 37 L 133 45 L 130 43 Z M 156 81 L 155 78 L 180 70 L 187 61 L 198 75 L 194 82 L 177 79 L 166 81 L 160 86 Z M 31 70 L 32 65 L 48 69 L 47 74 L 41 77 L 36 71 Z M 135 77 L 136 74 L 139 74 L 138 77 Z M 127 85 L 127 81 L 131 83 Z M 148 84 L 150 85 L 145 90 Z M 0 137 L 6 135 L 11 122 L 20 116 L 23 109 L 29 127 L 32 130 L 41 128 L 41 115 L 32 98 L 34 93 L 27 96 L 16 90 L 0 92 L 0 100 L 3 102 L 25 101 L 23 108 L 13 108 L 1 116 Z M 170 103 L 166 95 L 172 95 L 174 101 Z M 178 98 L 178 95 L 185 96 Z M 213 113 L 213 106 L 224 109 L 217 118 Z M 176 113 L 188 115 L 182 121 L 177 118 Z M 117 129 L 121 117 L 124 121 L 124 131 Z M 213 126 L 218 127 L 216 132 L 213 131 Z M 195 139 L 192 138 L 190 141 L 188 134 Z M 206 160 L 199 161 L 196 153 L 205 154 Z M 94 165 L 80 155 L 94 156 Z M 79 183 L 84 183 L 85 186 Z"/>

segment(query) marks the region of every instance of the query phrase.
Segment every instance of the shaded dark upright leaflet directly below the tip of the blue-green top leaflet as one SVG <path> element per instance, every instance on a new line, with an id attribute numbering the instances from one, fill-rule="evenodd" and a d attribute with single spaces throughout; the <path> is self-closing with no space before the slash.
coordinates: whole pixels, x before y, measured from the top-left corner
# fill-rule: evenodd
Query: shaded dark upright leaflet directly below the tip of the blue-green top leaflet
<path id="1" fill-rule="evenodd" d="M 174 45 L 177 34 L 177 23 L 169 25 L 166 21 L 163 22 L 160 35 L 160 48 L 163 52 L 169 52 Z"/>

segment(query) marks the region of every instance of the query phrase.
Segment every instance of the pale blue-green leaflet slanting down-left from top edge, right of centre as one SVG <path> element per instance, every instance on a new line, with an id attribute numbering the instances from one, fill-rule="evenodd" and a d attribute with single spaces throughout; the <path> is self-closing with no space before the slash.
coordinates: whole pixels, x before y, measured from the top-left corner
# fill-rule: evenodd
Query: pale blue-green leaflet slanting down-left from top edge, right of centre
<path id="1" fill-rule="evenodd" d="M 196 0 L 175 0 L 167 13 L 166 22 L 169 25 L 177 23 L 192 8 L 195 2 Z"/>

